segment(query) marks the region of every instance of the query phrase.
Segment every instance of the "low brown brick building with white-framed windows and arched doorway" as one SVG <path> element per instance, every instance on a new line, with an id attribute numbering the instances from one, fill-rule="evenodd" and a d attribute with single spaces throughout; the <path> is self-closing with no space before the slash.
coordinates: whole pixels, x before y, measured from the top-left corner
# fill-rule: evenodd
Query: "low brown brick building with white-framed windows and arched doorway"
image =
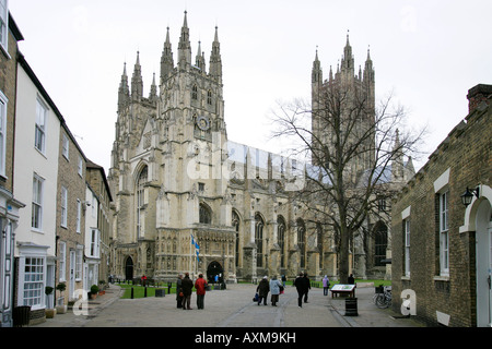
<path id="1" fill-rule="evenodd" d="M 468 116 L 393 206 L 394 308 L 409 294 L 410 314 L 430 325 L 492 323 L 491 98 L 491 85 L 469 89 Z"/>

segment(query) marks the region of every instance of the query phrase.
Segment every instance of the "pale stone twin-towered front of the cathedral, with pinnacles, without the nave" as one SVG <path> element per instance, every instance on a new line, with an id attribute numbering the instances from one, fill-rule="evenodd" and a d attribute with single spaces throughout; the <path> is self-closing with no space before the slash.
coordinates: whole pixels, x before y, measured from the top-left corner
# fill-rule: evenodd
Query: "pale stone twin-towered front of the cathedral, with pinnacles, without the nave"
<path id="1" fill-rule="evenodd" d="M 207 72 L 201 43 L 192 61 L 185 12 L 176 65 L 167 28 L 159 92 L 154 74 L 143 97 L 140 52 L 131 86 L 125 64 L 109 182 L 116 194 L 115 263 L 126 278 L 203 270 L 192 243 L 208 240 L 202 263 L 219 261 L 234 278 L 235 232 L 220 173 L 226 133 L 216 27 Z"/>

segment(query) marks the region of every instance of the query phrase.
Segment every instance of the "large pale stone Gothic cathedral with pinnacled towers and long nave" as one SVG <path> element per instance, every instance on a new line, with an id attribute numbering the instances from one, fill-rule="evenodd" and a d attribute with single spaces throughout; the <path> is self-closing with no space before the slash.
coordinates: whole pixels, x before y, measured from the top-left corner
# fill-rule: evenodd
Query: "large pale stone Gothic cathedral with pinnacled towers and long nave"
<path id="1" fill-rule="evenodd" d="M 174 280 L 180 273 L 203 273 L 225 282 L 300 272 L 312 279 L 336 277 L 332 233 L 307 219 L 293 195 L 303 185 L 303 165 L 227 139 L 218 28 L 207 67 L 200 43 L 192 57 L 185 12 L 174 59 L 167 28 L 160 76 L 154 74 L 148 97 L 139 53 L 130 81 L 125 63 L 108 172 L 112 274 Z M 353 80 L 374 101 L 370 57 L 363 73 L 355 75 L 348 40 L 341 69 L 324 82 L 316 53 L 313 93 L 335 80 Z M 316 120 L 313 127 L 323 132 Z M 400 181 L 408 180 L 411 165 L 401 173 Z M 378 239 L 354 244 L 356 277 L 387 273 L 380 261 L 390 256 L 390 232 L 377 229 Z"/>

